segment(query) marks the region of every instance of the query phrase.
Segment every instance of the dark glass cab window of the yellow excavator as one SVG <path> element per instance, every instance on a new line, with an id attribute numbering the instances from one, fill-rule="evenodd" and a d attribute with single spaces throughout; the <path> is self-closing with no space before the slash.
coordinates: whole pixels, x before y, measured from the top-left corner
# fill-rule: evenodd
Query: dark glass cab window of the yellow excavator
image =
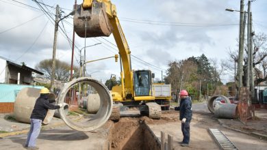
<path id="1" fill-rule="evenodd" d="M 151 72 L 149 70 L 135 71 L 133 80 L 135 95 L 148 96 L 151 88 Z"/>

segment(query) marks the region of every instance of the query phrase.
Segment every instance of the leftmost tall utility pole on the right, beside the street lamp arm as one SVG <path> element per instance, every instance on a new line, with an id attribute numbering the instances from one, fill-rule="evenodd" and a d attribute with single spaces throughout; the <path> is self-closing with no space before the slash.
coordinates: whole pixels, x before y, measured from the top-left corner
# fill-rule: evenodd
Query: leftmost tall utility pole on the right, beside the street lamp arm
<path id="1" fill-rule="evenodd" d="M 239 50 L 238 50 L 238 91 L 243 87 L 242 74 L 243 74 L 243 49 L 244 49 L 244 0 L 240 0 L 240 29 L 239 29 Z"/>

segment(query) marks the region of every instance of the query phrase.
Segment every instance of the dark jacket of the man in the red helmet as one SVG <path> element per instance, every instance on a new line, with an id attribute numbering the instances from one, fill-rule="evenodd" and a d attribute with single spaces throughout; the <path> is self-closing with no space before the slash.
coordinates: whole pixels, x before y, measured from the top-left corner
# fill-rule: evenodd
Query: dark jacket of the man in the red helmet
<path id="1" fill-rule="evenodd" d="M 186 121 L 191 121 L 192 119 L 192 102 L 190 97 L 185 97 L 181 99 L 180 102 L 180 120 L 186 118 Z"/>

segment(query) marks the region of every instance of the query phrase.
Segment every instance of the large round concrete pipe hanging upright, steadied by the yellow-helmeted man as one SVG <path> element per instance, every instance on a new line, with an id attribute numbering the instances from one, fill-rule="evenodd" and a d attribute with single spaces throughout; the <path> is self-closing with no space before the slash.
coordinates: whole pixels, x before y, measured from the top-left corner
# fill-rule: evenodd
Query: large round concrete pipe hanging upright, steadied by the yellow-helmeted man
<path id="1" fill-rule="evenodd" d="M 71 82 L 68 82 L 66 84 L 62 91 L 60 91 L 59 97 L 58 97 L 58 102 L 62 104 L 64 102 L 64 99 L 66 97 L 66 94 L 68 91 L 73 87 L 74 85 L 77 85 L 79 83 L 86 83 L 90 86 L 92 86 L 97 93 L 99 93 L 100 97 L 100 108 L 99 111 L 97 112 L 96 115 L 92 119 L 89 119 L 86 121 L 86 123 L 79 123 L 76 121 L 71 121 L 66 115 L 64 114 L 63 108 L 60 108 L 60 115 L 63 119 L 63 121 L 71 127 L 74 130 L 79 130 L 79 131 L 91 131 L 95 130 L 101 125 L 103 125 L 109 118 L 112 113 L 112 96 L 110 94 L 110 91 L 103 85 L 102 82 L 99 80 L 96 80 L 94 78 L 90 77 L 82 77 L 82 78 L 76 78 L 72 80 Z"/>

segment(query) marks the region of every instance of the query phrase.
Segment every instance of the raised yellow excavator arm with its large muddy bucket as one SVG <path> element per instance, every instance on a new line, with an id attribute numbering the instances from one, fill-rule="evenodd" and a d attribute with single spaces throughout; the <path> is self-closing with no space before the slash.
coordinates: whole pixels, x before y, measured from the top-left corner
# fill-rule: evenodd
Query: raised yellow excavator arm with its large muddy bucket
<path id="1" fill-rule="evenodd" d="M 131 51 L 120 27 L 116 6 L 110 0 L 84 0 L 77 6 L 73 24 L 75 33 L 80 37 L 109 36 L 113 33 L 123 65 L 120 72 L 121 96 L 130 100 L 133 97 Z"/>

